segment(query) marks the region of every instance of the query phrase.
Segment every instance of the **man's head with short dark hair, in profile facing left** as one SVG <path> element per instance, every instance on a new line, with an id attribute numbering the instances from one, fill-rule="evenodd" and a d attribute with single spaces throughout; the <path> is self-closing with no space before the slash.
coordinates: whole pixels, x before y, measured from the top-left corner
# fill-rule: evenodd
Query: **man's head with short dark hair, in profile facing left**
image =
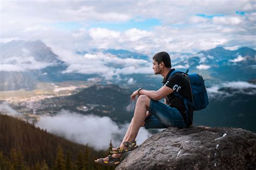
<path id="1" fill-rule="evenodd" d="M 153 56 L 153 70 L 154 74 L 160 74 L 161 70 L 166 68 L 171 68 L 171 58 L 170 55 L 166 52 L 159 52 Z"/>

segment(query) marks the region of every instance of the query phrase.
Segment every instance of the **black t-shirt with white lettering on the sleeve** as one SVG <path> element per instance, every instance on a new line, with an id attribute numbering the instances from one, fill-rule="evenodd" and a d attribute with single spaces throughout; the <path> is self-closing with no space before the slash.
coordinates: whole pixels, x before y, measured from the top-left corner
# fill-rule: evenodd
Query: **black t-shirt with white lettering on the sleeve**
<path id="1" fill-rule="evenodd" d="M 181 96 L 185 97 L 188 101 L 192 103 L 192 94 L 190 89 L 190 83 L 186 80 L 185 75 L 182 73 L 174 73 L 172 76 L 171 73 L 175 69 L 171 69 L 166 77 L 169 77 L 167 80 L 163 80 L 163 86 L 170 87 L 174 91 L 177 91 Z M 177 108 L 183 119 L 186 122 L 186 107 L 183 100 L 175 96 L 173 93 L 165 97 L 166 104 L 170 107 Z M 188 105 L 188 120 L 186 126 L 189 127 L 193 122 L 193 108 L 190 104 Z"/>

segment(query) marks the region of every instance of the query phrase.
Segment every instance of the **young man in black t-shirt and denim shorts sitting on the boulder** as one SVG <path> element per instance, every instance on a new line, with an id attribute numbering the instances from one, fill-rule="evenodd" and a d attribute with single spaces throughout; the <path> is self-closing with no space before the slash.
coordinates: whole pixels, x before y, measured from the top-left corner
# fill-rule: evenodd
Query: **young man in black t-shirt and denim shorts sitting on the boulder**
<path id="1" fill-rule="evenodd" d="M 140 126 L 149 128 L 168 128 L 170 126 L 178 128 L 188 128 L 193 121 L 193 109 L 188 104 L 188 113 L 183 100 L 174 95 L 178 92 L 192 103 L 190 83 L 181 73 L 171 73 L 175 70 L 171 68 L 170 55 L 166 52 L 159 52 L 153 56 L 154 74 L 164 77 L 163 87 L 157 91 L 139 88 L 131 95 L 131 100 L 138 100 L 134 110 L 134 116 L 125 134 L 120 147 L 113 148 L 112 155 L 106 158 L 95 160 L 98 164 L 117 166 L 120 163 L 122 153 L 132 151 L 136 145 L 136 137 Z M 165 103 L 160 102 L 165 98 Z"/>

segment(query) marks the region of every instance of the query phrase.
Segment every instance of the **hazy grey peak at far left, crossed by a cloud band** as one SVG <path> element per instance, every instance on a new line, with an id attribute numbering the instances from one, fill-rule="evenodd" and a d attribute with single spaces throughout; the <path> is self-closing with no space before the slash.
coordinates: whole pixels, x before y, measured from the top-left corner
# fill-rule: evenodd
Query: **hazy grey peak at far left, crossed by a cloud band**
<path id="1" fill-rule="evenodd" d="M 68 65 L 42 41 L 14 40 L 2 43 L 1 91 L 35 89 L 38 82 L 86 80 L 93 75 L 63 74 Z"/>

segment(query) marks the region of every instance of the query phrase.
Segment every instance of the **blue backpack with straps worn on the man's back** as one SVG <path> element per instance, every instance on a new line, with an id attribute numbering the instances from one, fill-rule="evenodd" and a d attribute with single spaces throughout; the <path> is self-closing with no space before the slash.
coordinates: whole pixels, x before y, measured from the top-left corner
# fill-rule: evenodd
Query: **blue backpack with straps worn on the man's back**
<path id="1" fill-rule="evenodd" d="M 188 114 L 187 104 L 191 104 L 194 111 L 205 109 L 209 102 L 203 77 L 196 73 L 188 74 L 188 69 L 186 73 L 174 70 L 170 76 L 175 73 L 182 73 L 187 75 L 185 76 L 185 78 L 190 83 L 192 103 L 188 101 L 185 97 L 181 96 L 177 91 L 173 92 L 175 96 L 178 96 L 183 100 L 186 107 L 186 114 Z"/>

